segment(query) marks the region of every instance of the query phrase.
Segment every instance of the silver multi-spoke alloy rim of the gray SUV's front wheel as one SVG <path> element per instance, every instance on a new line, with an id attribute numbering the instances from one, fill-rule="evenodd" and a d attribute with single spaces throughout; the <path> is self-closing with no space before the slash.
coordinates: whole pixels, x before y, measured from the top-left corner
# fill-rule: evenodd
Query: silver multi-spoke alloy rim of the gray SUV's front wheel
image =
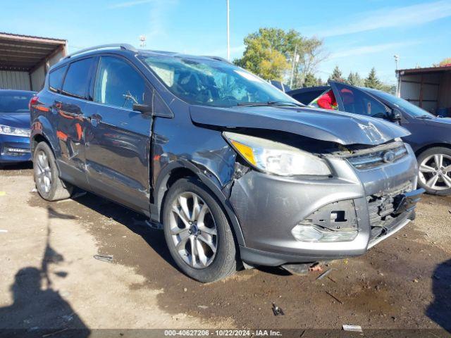
<path id="1" fill-rule="evenodd" d="M 170 231 L 175 249 L 192 268 L 213 263 L 218 247 L 218 232 L 209 206 L 197 194 L 178 194 L 171 206 Z"/>

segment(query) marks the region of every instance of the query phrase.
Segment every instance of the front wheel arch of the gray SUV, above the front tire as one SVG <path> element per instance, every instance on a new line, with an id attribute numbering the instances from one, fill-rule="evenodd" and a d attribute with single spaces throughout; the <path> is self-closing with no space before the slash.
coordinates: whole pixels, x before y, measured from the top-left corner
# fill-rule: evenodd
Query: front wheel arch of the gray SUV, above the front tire
<path id="1" fill-rule="evenodd" d="M 237 240 L 237 244 L 245 245 L 245 239 L 242 234 L 240 223 L 235 215 L 235 211 L 233 211 L 233 207 L 221 191 L 221 185 L 219 184 L 218 179 L 215 175 L 209 173 L 209 170 L 202 170 L 189 161 L 173 162 L 166 165 L 166 167 L 161 170 L 154 189 L 154 205 L 151 206 L 152 220 L 161 222 L 164 199 L 168 189 L 174 182 L 185 177 L 196 177 L 210 189 L 232 225 L 233 234 Z"/>

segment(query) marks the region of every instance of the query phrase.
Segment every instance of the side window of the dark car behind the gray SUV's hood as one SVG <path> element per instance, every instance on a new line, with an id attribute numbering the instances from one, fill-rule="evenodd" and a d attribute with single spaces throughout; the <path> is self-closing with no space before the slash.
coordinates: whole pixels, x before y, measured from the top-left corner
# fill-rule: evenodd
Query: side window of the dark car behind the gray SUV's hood
<path id="1" fill-rule="evenodd" d="M 371 116 L 373 118 L 386 118 L 387 109 L 381 102 L 362 90 L 336 83 L 338 92 L 345 111 L 359 115 Z"/>

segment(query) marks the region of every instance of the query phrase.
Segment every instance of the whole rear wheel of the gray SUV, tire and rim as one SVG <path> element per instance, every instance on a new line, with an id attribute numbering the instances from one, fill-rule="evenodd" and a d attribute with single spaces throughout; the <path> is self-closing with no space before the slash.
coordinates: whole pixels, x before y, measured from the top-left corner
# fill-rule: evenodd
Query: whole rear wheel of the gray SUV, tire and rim
<path id="1" fill-rule="evenodd" d="M 59 178 L 55 156 L 45 142 L 39 142 L 35 147 L 33 170 L 37 192 L 43 199 L 58 201 L 70 197 L 73 187 Z"/>

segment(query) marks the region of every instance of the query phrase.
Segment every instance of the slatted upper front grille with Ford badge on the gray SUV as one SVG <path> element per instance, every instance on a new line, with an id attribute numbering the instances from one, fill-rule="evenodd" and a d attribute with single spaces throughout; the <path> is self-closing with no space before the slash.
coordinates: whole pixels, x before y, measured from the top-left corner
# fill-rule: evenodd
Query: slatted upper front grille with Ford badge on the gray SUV
<path id="1" fill-rule="evenodd" d="M 354 168 L 365 170 L 396 162 L 408 154 L 406 147 L 401 142 L 395 142 L 393 147 L 384 147 L 384 149 L 381 150 L 378 150 L 378 148 L 379 147 L 376 147 L 373 151 L 366 151 L 365 154 L 348 156 L 347 161 L 349 161 Z M 386 156 L 389 151 L 392 153 L 389 156 L 390 158 Z"/>

